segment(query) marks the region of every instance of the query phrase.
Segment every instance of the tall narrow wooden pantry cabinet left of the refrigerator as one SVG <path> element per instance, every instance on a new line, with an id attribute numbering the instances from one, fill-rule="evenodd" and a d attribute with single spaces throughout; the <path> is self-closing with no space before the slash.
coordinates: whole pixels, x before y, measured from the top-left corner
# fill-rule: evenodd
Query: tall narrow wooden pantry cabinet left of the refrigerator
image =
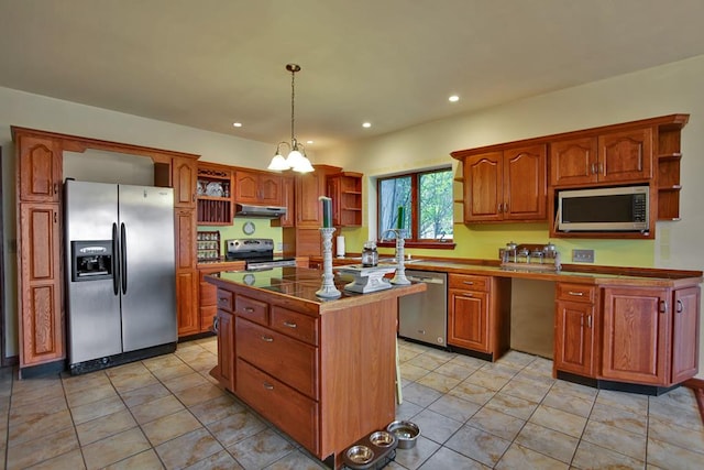
<path id="1" fill-rule="evenodd" d="M 62 150 L 13 129 L 18 152 L 20 368 L 66 357 L 62 280 Z"/>

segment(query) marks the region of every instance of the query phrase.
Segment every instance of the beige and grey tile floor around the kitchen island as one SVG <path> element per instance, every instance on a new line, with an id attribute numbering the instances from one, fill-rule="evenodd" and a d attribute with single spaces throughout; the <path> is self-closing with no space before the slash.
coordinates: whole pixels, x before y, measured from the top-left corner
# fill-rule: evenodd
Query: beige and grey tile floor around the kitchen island
<path id="1" fill-rule="evenodd" d="M 80 376 L 0 370 L 0 468 L 319 469 L 213 384 L 215 339 Z M 399 418 L 422 431 L 387 469 L 701 469 L 693 393 L 597 392 L 551 378 L 549 360 L 496 363 L 399 343 Z M 2 415 L 0 415 L 1 417 Z"/>

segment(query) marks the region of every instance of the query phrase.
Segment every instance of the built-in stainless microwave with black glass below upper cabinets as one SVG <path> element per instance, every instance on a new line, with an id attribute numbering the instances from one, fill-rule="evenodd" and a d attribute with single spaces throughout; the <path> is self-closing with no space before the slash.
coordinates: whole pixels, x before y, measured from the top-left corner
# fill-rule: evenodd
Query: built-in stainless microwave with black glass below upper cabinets
<path id="1" fill-rule="evenodd" d="M 640 231 L 650 228 L 650 189 L 623 186 L 559 190 L 558 231 Z"/>

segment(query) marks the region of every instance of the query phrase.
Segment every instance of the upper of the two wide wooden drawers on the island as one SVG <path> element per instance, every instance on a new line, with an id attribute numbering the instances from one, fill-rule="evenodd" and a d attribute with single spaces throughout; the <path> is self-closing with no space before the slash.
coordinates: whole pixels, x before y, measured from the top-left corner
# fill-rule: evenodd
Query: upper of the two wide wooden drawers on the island
<path id="1" fill-rule="evenodd" d="M 318 400 L 317 349 L 312 346 L 237 317 L 238 357 Z"/>

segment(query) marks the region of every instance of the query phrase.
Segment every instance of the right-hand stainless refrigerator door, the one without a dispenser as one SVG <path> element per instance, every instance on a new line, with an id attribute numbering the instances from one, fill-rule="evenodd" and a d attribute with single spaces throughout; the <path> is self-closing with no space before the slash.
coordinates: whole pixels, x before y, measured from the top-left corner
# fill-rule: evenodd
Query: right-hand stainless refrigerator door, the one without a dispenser
<path id="1" fill-rule="evenodd" d="M 175 342 L 173 189 L 120 185 L 119 203 L 123 349 Z"/>

